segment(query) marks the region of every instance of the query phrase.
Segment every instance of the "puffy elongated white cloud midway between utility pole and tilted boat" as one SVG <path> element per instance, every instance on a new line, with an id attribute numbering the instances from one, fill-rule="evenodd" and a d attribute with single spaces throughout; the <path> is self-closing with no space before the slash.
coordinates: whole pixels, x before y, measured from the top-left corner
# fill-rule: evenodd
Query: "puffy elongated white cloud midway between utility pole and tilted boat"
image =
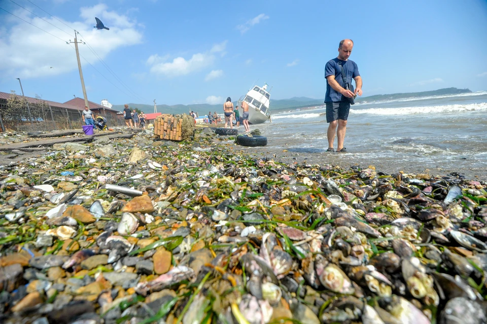
<path id="1" fill-rule="evenodd" d="M 210 66 L 215 56 L 211 54 L 196 53 L 190 59 L 184 57 L 176 57 L 172 62 L 162 62 L 161 57 L 157 54 L 151 55 L 147 63 L 152 65 L 151 72 L 155 74 L 163 74 L 168 77 L 177 77 L 187 75 L 194 71 L 199 71 L 207 66 Z"/>

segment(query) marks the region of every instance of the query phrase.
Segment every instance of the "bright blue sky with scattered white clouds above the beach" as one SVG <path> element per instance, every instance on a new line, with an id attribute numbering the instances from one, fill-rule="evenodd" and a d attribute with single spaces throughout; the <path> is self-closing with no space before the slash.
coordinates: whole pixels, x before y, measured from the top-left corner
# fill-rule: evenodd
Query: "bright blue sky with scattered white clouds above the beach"
<path id="1" fill-rule="evenodd" d="M 364 96 L 487 90 L 484 0 L 14 2 L 44 20 L 10 0 L 0 8 L 59 39 L 0 10 L 0 91 L 20 93 L 21 78 L 25 95 L 46 100 L 83 97 L 75 51 L 63 42 L 72 28 L 104 62 L 79 45 L 97 103 L 223 103 L 256 81 L 272 86 L 273 99 L 324 98 L 324 66 L 343 38 L 355 42 Z M 93 28 L 95 16 L 110 30 Z"/>

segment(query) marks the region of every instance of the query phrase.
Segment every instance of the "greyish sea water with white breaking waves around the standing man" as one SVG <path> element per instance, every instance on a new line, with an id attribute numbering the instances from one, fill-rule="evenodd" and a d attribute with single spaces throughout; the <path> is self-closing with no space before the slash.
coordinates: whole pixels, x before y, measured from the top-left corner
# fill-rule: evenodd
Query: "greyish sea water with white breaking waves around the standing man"
<path id="1" fill-rule="evenodd" d="M 487 91 L 354 105 L 346 128 L 347 153 L 325 152 L 324 112 L 272 114 L 272 123 L 251 125 L 267 137 L 265 149 L 247 150 L 308 163 L 374 165 L 386 173 L 457 172 L 487 180 Z"/>

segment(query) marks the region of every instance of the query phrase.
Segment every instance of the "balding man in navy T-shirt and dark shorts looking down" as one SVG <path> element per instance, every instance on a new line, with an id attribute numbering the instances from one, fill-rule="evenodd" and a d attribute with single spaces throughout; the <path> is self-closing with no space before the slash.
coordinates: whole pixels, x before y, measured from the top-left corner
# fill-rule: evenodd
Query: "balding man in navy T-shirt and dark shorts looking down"
<path id="1" fill-rule="evenodd" d="M 325 104 L 326 122 L 328 123 L 328 131 L 326 133 L 328 138 L 327 152 L 335 152 L 333 148 L 335 131 L 338 139 L 336 152 L 346 152 L 343 142 L 345 140 L 346 121 L 350 112 L 350 102 L 346 98 L 355 98 L 357 94 L 362 95 L 362 78 L 360 77 L 359 68 L 354 61 L 349 59 L 353 47 L 354 42 L 352 40 L 340 41 L 338 57 L 329 60 L 325 66 L 325 78 L 327 81 Z M 352 84 L 352 79 L 355 80 L 356 88 L 353 92 L 345 89 L 340 66 L 343 67 L 346 81 L 349 84 Z"/>

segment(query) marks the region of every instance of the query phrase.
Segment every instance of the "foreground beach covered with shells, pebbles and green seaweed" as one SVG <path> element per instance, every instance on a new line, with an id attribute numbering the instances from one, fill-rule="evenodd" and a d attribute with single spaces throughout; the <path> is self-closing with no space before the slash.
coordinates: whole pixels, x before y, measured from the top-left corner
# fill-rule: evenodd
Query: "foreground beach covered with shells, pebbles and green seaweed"
<path id="1" fill-rule="evenodd" d="M 382 175 L 301 155 L 281 163 L 265 147 L 240 149 L 198 128 L 188 142 L 142 133 L 100 138 L 0 167 L 0 320 L 330 323 L 340 305 L 354 308 L 343 320 L 364 321 L 370 314 L 362 310 L 374 300 L 387 314 L 382 301 L 406 304 L 421 323 L 448 312 L 453 297 L 440 301 L 431 272 L 449 280 L 456 268 L 422 272 L 427 296 L 415 299 L 401 293 L 409 287 L 401 267 L 416 257 L 434 260 L 407 247 L 435 240 L 464 258 L 480 255 L 450 235 L 482 238 L 487 183 Z M 108 191 L 108 184 L 121 188 Z M 421 204 L 436 214 L 421 221 Z M 449 219 L 445 228 L 440 216 Z M 398 218 L 408 226 L 393 223 Z M 487 272 L 487 263 L 470 261 Z M 382 280 L 382 295 L 357 272 L 373 265 L 375 273 L 365 275 Z M 487 298 L 487 288 L 478 294 Z M 487 309 L 480 299 L 466 302 Z"/>

